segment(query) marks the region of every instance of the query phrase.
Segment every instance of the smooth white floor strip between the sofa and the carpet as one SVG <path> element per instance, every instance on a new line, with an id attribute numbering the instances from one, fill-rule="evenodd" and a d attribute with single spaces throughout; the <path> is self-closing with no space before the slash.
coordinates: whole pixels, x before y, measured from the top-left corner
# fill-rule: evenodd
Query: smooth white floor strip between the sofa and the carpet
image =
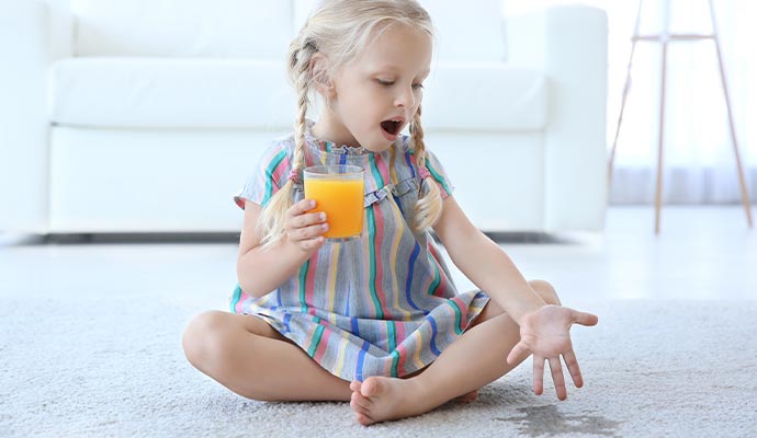
<path id="1" fill-rule="evenodd" d="M 651 208 L 615 207 L 601 234 L 495 235 L 527 278 L 555 285 L 563 302 L 606 299 L 757 299 L 757 230 L 738 207 L 666 207 L 659 235 Z M 18 290 L 66 293 L 115 284 L 149 297 L 181 288 L 225 308 L 236 281 L 234 237 L 39 239 L 0 234 L 0 298 Z M 454 270 L 461 289 L 474 288 Z"/>

